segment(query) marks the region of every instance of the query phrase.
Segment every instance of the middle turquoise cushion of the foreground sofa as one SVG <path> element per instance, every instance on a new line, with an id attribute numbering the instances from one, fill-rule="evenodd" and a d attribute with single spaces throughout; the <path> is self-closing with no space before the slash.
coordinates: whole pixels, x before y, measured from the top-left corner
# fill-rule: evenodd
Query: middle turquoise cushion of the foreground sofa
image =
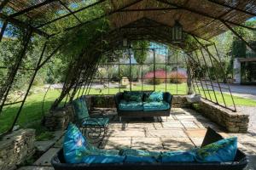
<path id="1" fill-rule="evenodd" d="M 125 156 L 125 162 L 154 163 L 159 159 L 160 152 L 124 149 L 120 150 L 119 155 Z"/>

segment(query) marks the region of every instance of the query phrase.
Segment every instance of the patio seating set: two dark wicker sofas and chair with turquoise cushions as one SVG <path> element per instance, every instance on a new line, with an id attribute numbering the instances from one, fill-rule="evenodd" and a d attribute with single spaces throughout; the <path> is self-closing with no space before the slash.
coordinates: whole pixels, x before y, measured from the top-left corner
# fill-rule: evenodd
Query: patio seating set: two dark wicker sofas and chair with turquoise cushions
<path id="1" fill-rule="evenodd" d="M 115 101 L 120 117 L 170 116 L 172 94 L 124 92 L 116 94 Z M 210 127 L 201 147 L 192 150 L 166 152 L 130 148 L 100 150 L 90 141 L 102 141 L 108 131 L 109 118 L 90 116 L 84 96 L 73 100 L 73 111 L 76 125 L 69 124 L 63 149 L 51 161 L 55 170 L 102 168 L 220 170 L 243 169 L 247 166 L 247 157 L 237 149 L 237 139 L 223 139 Z"/>

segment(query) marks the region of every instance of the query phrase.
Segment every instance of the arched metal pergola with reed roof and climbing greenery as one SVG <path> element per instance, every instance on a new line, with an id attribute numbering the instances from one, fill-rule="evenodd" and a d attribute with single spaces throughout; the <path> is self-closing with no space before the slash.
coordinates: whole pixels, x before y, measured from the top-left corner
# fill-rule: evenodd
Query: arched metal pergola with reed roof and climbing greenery
<path id="1" fill-rule="evenodd" d="M 75 10 L 72 7 L 76 7 Z M 101 10 L 94 14 L 93 11 L 99 10 L 99 8 Z M 193 71 L 196 68 L 202 68 L 203 65 L 218 66 L 219 69 L 223 69 L 218 50 L 215 44 L 209 40 L 224 31 L 232 31 L 247 44 L 247 47 L 255 51 L 234 30 L 235 26 L 239 26 L 255 31 L 255 28 L 242 24 L 256 16 L 256 2 L 253 0 L 237 0 L 236 2 L 231 0 L 2 0 L 0 11 L 0 19 L 3 21 L 0 41 L 4 32 L 8 31 L 9 25 L 24 32 L 20 52 L 16 55 L 12 65 L 6 65 L 3 68 L 8 69 L 8 75 L 0 84 L 0 114 L 4 105 L 17 103 L 7 104 L 6 99 L 15 82 L 17 72 L 24 69 L 20 65 L 26 60 L 26 50 L 29 43 L 32 43 L 32 37 L 39 36 L 44 41 L 44 47 L 42 47 L 36 67 L 26 69 L 32 71 L 32 77 L 25 97 L 18 101 L 21 103 L 20 109 L 10 130 L 20 115 L 26 96 L 40 68 L 60 50 L 68 45 L 74 45 L 76 42 L 73 39 L 86 29 L 91 29 L 91 26 L 94 28 L 102 26 L 98 27 L 101 31 L 96 31 L 94 35 L 88 35 L 87 42 L 90 43 L 82 47 L 77 56 L 73 56 L 61 95 L 55 100 L 52 109 L 67 97 L 72 100 L 82 85 L 85 84 L 87 88 L 90 88 L 90 82 L 102 54 L 111 51 L 113 47 L 122 48 L 124 38 L 131 41 L 143 39 L 162 42 L 180 48 L 187 55 L 184 60 L 190 68 L 194 68 Z M 92 13 L 90 18 L 82 17 L 83 13 L 90 12 Z M 71 19 L 68 27 L 62 27 L 61 23 Z M 178 20 L 183 26 L 185 36 L 183 42 L 172 41 L 171 32 L 175 20 Z M 102 24 L 97 25 L 99 22 Z M 59 27 L 52 26 L 54 23 L 59 23 Z M 187 41 L 188 39 L 192 42 Z M 50 48 L 49 44 L 51 44 Z M 218 76 L 215 75 L 215 77 Z M 200 94 L 205 94 L 207 91 L 201 91 L 196 87 L 199 83 L 201 85 L 205 83 L 206 86 L 214 89 L 212 81 L 193 79 L 192 82 L 195 91 Z M 221 91 L 219 83 L 218 88 Z M 83 91 L 82 94 L 86 94 L 86 91 Z M 217 99 L 209 100 L 220 105 Z M 225 104 L 223 106 L 227 107 Z M 235 104 L 234 107 L 231 110 L 236 111 Z"/>

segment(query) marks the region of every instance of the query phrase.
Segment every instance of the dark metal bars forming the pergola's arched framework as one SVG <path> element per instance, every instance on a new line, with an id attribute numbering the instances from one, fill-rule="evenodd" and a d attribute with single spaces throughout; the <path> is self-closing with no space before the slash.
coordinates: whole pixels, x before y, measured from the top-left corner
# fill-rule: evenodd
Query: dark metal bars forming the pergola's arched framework
<path id="1" fill-rule="evenodd" d="M 49 24 L 51 23 L 54 23 L 58 20 L 61 20 L 61 19 L 64 19 L 68 16 L 73 16 L 76 20 L 79 21 L 79 24 L 76 25 L 76 26 L 70 26 L 68 27 L 67 29 L 65 29 L 64 31 L 73 31 L 75 29 L 78 29 L 79 27 L 81 26 L 87 26 L 87 25 L 90 25 L 91 23 L 94 23 L 96 22 L 97 20 L 102 20 L 102 19 L 105 19 L 105 18 L 108 18 L 110 16 L 113 16 L 113 14 L 121 14 L 121 13 L 124 13 L 124 14 L 128 14 L 128 13 L 137 13 L 137 12 L 153 12 L 153 11 L 174 11 L 174 10 L 184 10 L 184 11 L 188 11 L 190 12 L 191 14 L 197 14 L 201 17 L 206 17 L 206 18 L 209 18 L 209 19 L 212 19 L 212 22 L 214 20 L 218 20 L 219 22 L 221 22 L 222 24 L 224 24 L 224 26 L 226 26 L 226 28 L 230 31 L 232 31 L 236 37 L 240 38 L 242 42 L 245 42 L 247 44 L 247 46 L 249 48 L 251 48 L 254 52 L 256 52 L 256 49 L 253 48 L 243 37 L 241 37 L 241 35 L 233 29 L 232 26 L 239 26 L 239 27 L 242 27 L 242 28 L 246 28 L 248 30 L 251 30 L 251 31 L 256 31 L 256 28 L 253 28 L 253 27 L 250 27 L 250 26 L 244 26 L 244 25 L 241 25 L 240 23 L 236 23 L 232 20 L 225 20 L 223 19 L 224 18 L 224 15 L 226 14 L 230 14 L 231 11 L 239 11 L 240 13 L 242 14 L 247 14 L 247 15 L 250 15 L 250 16 L 256 16 L 255 13 L 253 13 L 252 11 L 247 11 L 245 9 L 242 9 L 242 8 L 237 8 L 237 7 L 233 7 L 233 6 L 230 6 L 228 4 L 225 4 L 225 3 L 219 3 L 217 0 L 206 0 L 207 2 L 211 2 L 212 4 L 218 4 L 219 6 L 222 6 L 224 8 L 229 8 L 229 10 L 224 13 L 224 14 L 220 14 L 218 17 L 216 16 L 213 16 L 212 14 L 208 14 L 206 12 L 202 12 L 202 11 L 199 11 L 199 10 L 195 10 L 193 8 L 189 8 L 187 7 L 185 4 L 183 5 L 179 5 L 177 3 L 171 3 L 170 1 L 167 1 L 167 0 L 155 0 L 156 2 L 158 3 L 162 3 L 162 4 L 167 4 L 169 7 L 166 7 L 166 8 L 138 8 L 138 9 L 131 9 L 130 7 L 131 6 L 134 6 L 136 5 L 137 3 L 141 3 L 143 2 L 143 0 L 137 0 L 137 1 L 134 1 L 134 2 L 131 2 L 131 3 L 128 3 L 128 4 L 125 4 L 124 6 L 122 7 L 119 7 L 119 8 L 116 8 L 114 10 L 110 10 L 108 12 L 106 12 L 106 14 L 102 14 L 101 16 L 98 16 L 94 19 L 91 19 L 91 20 L 80 20 L 79 17 L 76 15 L 77 13 L 81 12 L 81 11 L 84 11 L 86 9 L 90 9 L 90 8 L 93 8 L 95 7 L 96 5 L 100 5 L 102 3 L 105 3 L 107 2 L 108 0 L 99 0 L 97 1 L 96 3 L 91 3 L 83 8 L 79 8 L 78 10 L 75 10 L 73 11 L 72 9 L 68 8 L 67 7 L 67 4 L 66 3 L 63 3 L 61 0 L 45 0 L 44 2 L 42 3 L 38 3 L 36 5 L 32 5 L 31 7 L 28 7 L 28 8 L 24 8 L 20 11 L 17 11 L 15 14 L 10 14 L 10 15 L 7 15 L 7 14 L 4 14 L 3 13 L 3 8 L 5 8 L 8 4 L 9 4 L 9 0 L 3 0 L 3 2 L 0 4 L 0 19 L 3 20 L 3 26 L 2 26 L 2 29 L 1 29 L 1 33 L 0 33 L 0 42 L 2 41 L 3 39 L 3 35 L 4 35 L 4 32 L 6 31 L 6 29 L 8 28 L 8 25 L 11 24 L 11 25 L 14 25 L 14 26 L 17 26 L 20 28 L 20 30 L 23 30 L 26 32 L 24 38 L 23 38 L 23 48 L 21 49 L 20 51 L 20 54 L 19 56 L 17 56 L 16 58 L 16 61 L 15 61 L 15 67 L 14 68 L 9 68 L 9 67 L 6 67 L 6 68 L 0 68 L 0 69 L 11 69 L 10 73 L 9 73 L 9 77 L 8 77 L 8 81 L 5 83 L 5 85 L 3 87 L 1 87 L 1 91 L 0 91 L 0 114 L 1 114 L 1 111 L 3 110 L 3 106 L 4 105 L 13 105 L 15 103 L 21 103 L 20 105 L 20 109 L 19 111 L 17 112 L 17 115 L 15 116 L 15 120 L 14 122 L 12 123 L 12 127 L 9 128 L 9 132 L 12 131 L 13 127 L 15 126 L 15 123 L 17 122 L 17 119 L 18 117 L 20 116 L 20 111 L 22 110 L 22 107 L 26 101 L 26 97 L 28 95 L 28 92 L 29 90 L 31 89 L 32 87 L 32 82 L 34 81 L 34 78 L 36 77 L 38 71 L 40 70 L 40 68 L 42 68 L 48 61 L 49 59 L 51 59 L 60 49 L 63 45 L 67 44 L 68 42 L 62 42 L 58 47 L 56 47 L 51 54 L 49 54 L 49 56 L 46 56 L 44 58 L 44 51 L 45 49 L 47 48 L 47 42 L 49 41 L 50 38 L 54 38 L 56 35 L 59 35 L 61 34 L 63 31 L 60 31 L 60 32 L 56 32 L 54 34 L 51 34 L 49 35 L 48 33 L 46 33 L 45 31 L 42 31 L 42 27 L 43 26 L 49 26 Z M 38 8 L 42 8 L 46 5 L 50 5 L 51 3 L 55 3 L 55 2 L 58 2 L 61 4 L 61 6 L 63 6 L 64 8 L 67 9 L 68 13 L 67 14 L 64 14 L 62 15 L 61 17 L 59 18 L 55 18 L 53 20 L 49 20 L 49 21 L 46 21 L 38 26 L 32 26 L 31 23 L 26 23 L 25 21 L 22 21 L 22 20 L 18 20 L 17 17 L 22 15 L 22 14 L 27 14 L 29 12 L 31 12 L 32 10 L 35 10 L 35 9 L 38 9 Z M 189 3 L 189 0 L 187 1 L 187 3 Z M 165 26 L 165 24 L 163 23 L 159 23 L 160 26 L 163 26 L 163 27 L 167 27 Z M 207 23 L 209 24 L 209 23 Z M 110 35 L 112 35 L 111 33 L 121 33 L 121 29 L 124 28 L 125 26 L 118 26 L 116 29 L 114 29 L 113 31 L 110 31 L 108 32 Z M 156 28 L 157 26 L 153 26 L 154 28 Z M 197 30 L 201 30 L 203 26 L 199 27 L 199 28 L 196 28 Z M 137 28 L 137 27 L 136 27 Z M 125 28 L 125 29 L 131 29 L 131 28 Z M 152 33 L 153 31 L 150 30 L 150 28 L 143 28 L 144 31 L 148 31 L 149 33 Z M 187 32 L 189 35 L 193 36 L 195 38 L 195 41 L 198 42 L 199 44 L 199 48 L 193 48 L 191 49 L 190 51 L 188 51 L 186 49 L 186 53 L 189 55 L 189 59 L 192 58 L 192 60 L 195 61 L 194 57 L 192 55 L 190 55 L 192 52 L 195 53 L 196 50 L 200 49 L 204 49 L 205 51 L 207 51 L 207 54 L 209 56 L 209 58 L 211 59 L 211 65 L 213 64 L 212 63 L 212 59 L 215 60 L 216 62 L 220 63 L 221 60 L 220 60 L 220 56 L 218 54 L 218 50 L 214 44 L 214 48 L 216 49 L 217 51 L 217 54 L 218 54 L 218 59 L 215 58 L 211 53 L 210 51 L 208 50 L 208 47 L 210 43 L 208 43 L 207 45 L 206 44 L 203 44 L 201 43 L 201 41 L 199 41 L 198 38 L 200 37 L 197 37 L 195 34 L 193 34 L 193 31 L 190 31 L 190 32 Z M 26 48 L 28 46 L 28 44 L 31 42 L 31 38 L 32 38 L 32 35 L 33 34 L 38 34 L 39 36 L 42 36 L 42 37 L 45 37 L 47 39 L 47 41 L 45 42 L 44 44 L 44 48 L 42 49 L 42 54 L 40 55 L 40 58 L 38 59 L 38 64 L 37 64 L 37 67 L 36 68 L 20 68 L 20 63 L 21 63 L 21 60 L 25 57 L 26 55 Z M 138 34 L 142 34 L 142 32 L 139 32 Z M 118 34 L 120 35 L 120 34 Z M 117 46 L 117 42 L 119 42 L 120 40 L 117 38 L 117 39 L 111 39 L 113 37 L 108 37 L 109 39 L 109 42 L 110 42 L 110 45 L 109 46 Z M 134 38 L 136 40 L 136 36 L 133 36 L 131 35 L 131 39 Z M 156 39 L 158 42 L 168 42 L 170 41 L 167 37 L 166 37 L 166 32 L 164 31 L 161 31 L 161 35 L 144 35 L 144 38 L 145 39 L 148 39 L 148 40 L 154 40 Z M 201 39 L 205 39 L 203 37 L 201 37 Z M 207 39 L 205 39 L 207 40 Z M 101 44 L 102 42 L 97 42 L 96 44 Z M 172 43 L 172 42 L 171 42 Z M 212 43 L 211 43 L 212 44 Z M 177 44 L 175 44 L 177 45 Z M 178 46 L 178 45 L 177 45 Z M 181 49 L 184 50 L 183 47 L 179 47 Z M 109 49 L 105 49 L 105 51 L 108 51 Z M 82 52 L 81 52 L 81 56 L 84 56 L 84 54 L 86 54 L 86 50 L 84 49 Z M 204 64 L 207 65 L 207 62 L 205 60 L 205 56 L 204 54 L 202 53 L 201 51 L 201 54 L 203 55 L 203 58 L 204 58 Z M 195 56 L 197 56 L 195 54 Z M 44 60 L 43 60 L 44 58 Z M 81 57 L 82 58 L 82 57 Z M 199 60 L 198 60 L 199 61 Z M 79 60 L 79 61 L 76 61 L 75 64 L 79 65 L 78 63 L 79 62 L 83 62 L 83 59 Z M 70 100 L 73 99 L 73 97 L 75 96 L 75 94 L 77 93 L 77 87 L 79 87 L 81 84 L 85 83 L 87 88 L 85 90 L 85 94 L 88 93 L 90 91 L 90 86 L 91 86 L 91 80 L 93 79 L 93 75 L 95 75 L 96 73 L 96 67 L 97 67 L 97 62 L 98 62 L 98 59 L 95 59 L 95 60 L 92 60 L 88 65 L 81 65 L 81 67 L 79 68 L 79 72 L 77 77 L 73 77 L 73 76 L 70 76 L 67 78 L 67 83 L 65 83 L 64 85 L 64 88 L 62 90 L 62 93 L 61 93 L 61 96 L 59 97 L 59 99 L 57 99 L 55 101 L 55 104 L 53 105 L 53 108 L 55 106 L 57 106 L 62 99 L 64 99 L 65 97 L 67 97 L 67 94 L 69 95 L 71 89 L 75 86 L 75 89 L 73 90 L 73 93 L 70 94 Z M 187 60 L 186 60 L 187 62 Z M 199 63 L 199 62 L 198 62 Z M 189 64 L 189 62 L 188 62 Z M 223 69 L 223 68 L 222 68 Z M 29 71 L 33 71 L 33 75 L 31 77 L 31 80 L 29 82 L 29 85 L 28 85 L 28 88 L 26 90 L 26 94 L 25 94 L 25 98 L 22 100 L 22 101 L 18 101 L 18 102 L 14 102 L 14 103 L 9 103 L 9 104 L 5 104 L 5 101 L 7 99 L 7 96 L 9 95 L 9 91 L 13 85 L 13 82 L 14 82 L 14 78 L 17 74 L 17 71 L 18 70 L 29 70 Z M 84 74 L 83 73 L 87 73 L 87 74 Z M 93 72 L 93 74 L 89 74 L 88 72 Z M 215 75 L 216 76 L 216 75 Z M 79 78 L 78 78 L 79 77 Z M 195 84 L 195 83 L 194 83 Z M 202 82 L 201 82 L 202 84 Z M 196 82 L 196 86 L 197 86 L 197 82 Z M 212 81 L 211 81 L 211 85 L 212 85 Z M 207 85 L 208 86 L 208 85 Z M 213 86 L 213 85 L 212 85 Z M 219 82 L 218 82 L 218 87 L 219 87 Z M 195 88 L 195 87 L 194 87 Z M 88 90 L 89 89 L 89 90 Z M 199 88 L 198 88 L 199 89 Z M 229 90 L 230 90 L 230 87 L 229 87 Z M 208 91 L 209 92 L 209 91 Z M 79 94 L 80 94 L 80 89 L 79 89 Z M 84 90 L 82 92 L 82 94 L 84 94 Z M 205 91 L 204 91 L 204 94 L 205 94 Z M 221 94 L 223 95 L 223 93 L 221 92 Z M 231 92 L 230 92 L 231 94 Z M 214 95 L 215 95 L 215 99 L 216 98 L 216 94 L 214 92 Z M 211 96 L 211 95 L 210 95 Z M 232 96 L 232 94 L 231 94 Z M 210 99 L 212 101 L 212 99 Z M 234 103 L 234 99 L 232 98 L 232 101 L 233 101 L 233 104 L 234 104 L 234 107 L 235 107 L 235 110 L 236 111 L 236 105 Z M 218 101 L 217 101 L 217 104 L 219 105 Z M 224 105 L 224 107 L 227 107 L 227 105 Z"/>

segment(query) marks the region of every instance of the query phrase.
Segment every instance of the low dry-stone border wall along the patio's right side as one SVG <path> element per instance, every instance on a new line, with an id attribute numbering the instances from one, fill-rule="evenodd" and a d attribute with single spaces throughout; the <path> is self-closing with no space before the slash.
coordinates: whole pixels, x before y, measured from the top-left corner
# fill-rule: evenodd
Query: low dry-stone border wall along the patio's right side
<path id="1" fill-rule="evenodd" d="M 230 133 L 247 133 L 249 115 L 230 111 L 206 99 L 201 99 L 197 110 L 218 123 L 219 126 L 226 128 Z"/>

